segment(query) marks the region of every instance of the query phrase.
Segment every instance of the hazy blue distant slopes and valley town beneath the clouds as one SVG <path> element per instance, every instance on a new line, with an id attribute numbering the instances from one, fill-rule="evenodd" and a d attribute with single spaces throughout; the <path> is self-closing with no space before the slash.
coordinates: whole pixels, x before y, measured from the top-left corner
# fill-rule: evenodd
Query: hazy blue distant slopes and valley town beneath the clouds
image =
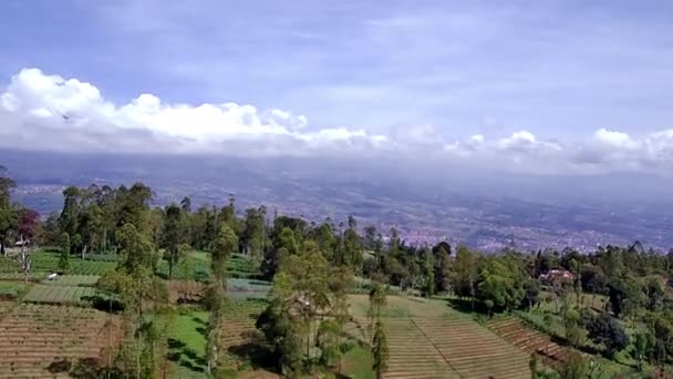
<path id="1" fill-rule="evenodd" d="M 142 181 L 164 205 L 190 196 L 218 204 L 235 194 L 239 209 L 267 205 L 279 213 L 360 226 L 391 227 L 410 242 L 447 239 L 484 250 L 641 240 L 673 247 L 673 187 L 645 175 L 525 176 L 468 167 L 411 167 L 354 160 L 239 158 L 0 152 L 19 186 L 14 197 L 48 214 L 66 185 Z"/>

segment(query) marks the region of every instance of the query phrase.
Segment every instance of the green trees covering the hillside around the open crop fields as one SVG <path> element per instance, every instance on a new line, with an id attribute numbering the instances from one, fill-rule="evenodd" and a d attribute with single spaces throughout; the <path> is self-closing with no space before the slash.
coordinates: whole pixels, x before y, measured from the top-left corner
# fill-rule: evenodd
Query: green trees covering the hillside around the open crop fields
<path id="1" fill-rule="evenodd" d="M 556 359 L 517 346 L 528 367 L 511 377 L 663 377 L 673 360 L 673 249 L 666 254 L 634 242 L 598 246 L 591 254 L 571 246 L 482 254 L 446 242 L 407 244 L 394 228 L 379 231 L 354 217 L 313 222 L 263 205 L 238 209 L 234 195 L 218 205 L 196 206 L 185 197 L 155 206 L 143 183 L 66 187 L 62 209 L 39 215 L 12 202 L 13 186 L 2 168 L 1 263 L 17 268 L 13 283 L 34 283 L 42 256 L 53 258 L 59 275 L 79 274 L 74 267 L 85 262 L 116 263 L 92 288 L 104 294 L 94 307 L 118 319 L 117 344 L 107 347 L 105 359 L 69 366 L 74 377 L 166 377 L 174 348 L 168 330 L 185 307 L 204 315 L 203 375 L 236 376 L 222 345 L 231 284 L 240 274 L 231 266 L 236 259 L 270 286 L 253 320 L 259 338 L 248 360 L 253 369 L 283 377 L 393 378 L 398 341 L 391 334 L 398 331 L 391 329 L 392 314 L 400 299 L 417 300 L 418 307 L 441 304 L 476 322 L 465 325 L 505 339 L 509 335 L 499 328 L 516 319 L 563 349 Z M 191 275 L 193 252 L 205 257 L 203 275 Z M 199 284 L 199 294 L 193 301 L 172 301 L 170 286 L 185 273 Z M 366 309 L 355 316 L 359 296 Z M 413 313 L 405 315 L 413 320 Z M 354 349 L 355 324 L 367 357 L 365 369 L 355 371 L 366 375 L 353 373 L 344 360 Z"/>

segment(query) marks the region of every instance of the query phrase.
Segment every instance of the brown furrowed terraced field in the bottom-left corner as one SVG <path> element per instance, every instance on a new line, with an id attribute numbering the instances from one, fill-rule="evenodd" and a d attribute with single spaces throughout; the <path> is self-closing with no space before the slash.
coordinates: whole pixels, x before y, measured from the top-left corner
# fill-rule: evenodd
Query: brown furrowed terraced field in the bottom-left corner
<path id="1" fill-rule="evenodd" d="M 97 358 L 108 341 L 114 346 L 108 320 L 93 309 L 20 305 L 0 320 L 0 378 L 66 377 L 60 362 Z"/>

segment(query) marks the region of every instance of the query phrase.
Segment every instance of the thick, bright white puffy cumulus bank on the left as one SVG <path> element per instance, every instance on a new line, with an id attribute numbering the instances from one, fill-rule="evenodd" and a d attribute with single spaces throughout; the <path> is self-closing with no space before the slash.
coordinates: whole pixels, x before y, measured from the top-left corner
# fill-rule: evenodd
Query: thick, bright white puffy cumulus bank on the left
<path id="1" fill-rule="evenodd" d="M 135 137 L 156 142 L 145 145 L 143 152 L 169 148 L 168 152 L 263 155 L 370 148 L 386 140 L 364 130 L 309 131 L 303 115 L 277 109 L 259 111 L 232 102 L 167 104 L 144 93 L 117 106 L 90 83 L 48 75 L 38 69 L 24 69 L 11 79 L 0 96 L 0 133 L 12 136 L 4 143 L 31 135 L 33 148 L 134 150 L 137 143 L 126 140 Z M 60 137 L 41 139 L 35 131 Z"/>

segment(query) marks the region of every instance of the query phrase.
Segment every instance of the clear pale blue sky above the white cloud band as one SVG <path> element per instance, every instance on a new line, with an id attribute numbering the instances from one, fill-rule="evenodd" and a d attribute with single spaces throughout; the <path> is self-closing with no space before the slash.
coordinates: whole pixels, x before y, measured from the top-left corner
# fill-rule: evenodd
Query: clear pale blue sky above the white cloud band
<path id="1" fill-rule="evenodd" d="M 442 140 L 465 153 L 474 136 L 505 146 L 524 132 L 545 141 L 536 148 L 567 150 L 605 130 L 642 153 L 653 135 L 673 141 L 671 21 L 671 1 L 7 0 L 0 84 L 37 68 L 91 83 L 117 107 L 147 93 L 162 106 L 283 110 L 306 116 L 301 133 L 330 141 Z M 46 101 L 25 103 L 41 114 Z M 176 127 L 167 134 L 213 136 Z M 669 140 L 655 142 L 673 161 Z"/>

